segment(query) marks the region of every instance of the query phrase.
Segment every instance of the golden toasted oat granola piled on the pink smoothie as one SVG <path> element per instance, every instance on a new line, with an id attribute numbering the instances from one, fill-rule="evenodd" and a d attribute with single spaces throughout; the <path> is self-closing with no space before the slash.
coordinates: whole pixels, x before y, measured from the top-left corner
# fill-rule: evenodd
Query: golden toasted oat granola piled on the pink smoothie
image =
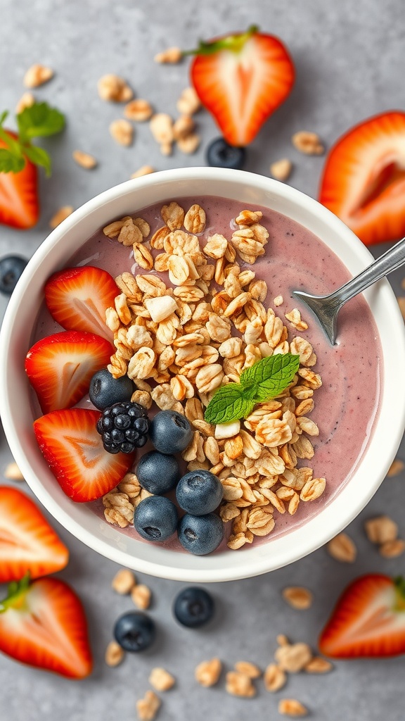
<path id="1" fill-rule="evenodd" d="M 205 244 L 199 237 L 205 211 L 197 203 L 187 212 L 176 202 L 164 205 L 161 218 L 153 234 L 143 218 L 131 216 L 104 228 L 106 236 L 132 247 L 136 264 L 147 271 L 115 279 L 120 293 L 106 323 L 116 350 L 108 368 L 115 378 L 128 374 L 133 380 L 135 402 L 146 408 L 154 402 L 190 420 L 195 432 L 183 459 L 188 470 L 210 470 L 221 479 L 219 512 L 232 522 L 228 547 L 238 549 L 271 533 L 275 510 L 293 515 L 301 501 L 324 492 L 324 478 L 298 467 L 313 457 L 311 437 L 319 434 L 308 417 L 321 386 L 312 369 L 316 354 L 295 335 L 308 328 L 300 311 L 285 312 L 284 324 L 264 305 L 265 281 L 241 266 L 264 255 L 269 233 L 261 211 L 241 211 L 229 239 L 215 233 Z M 282 303 L 277 296 L 275 305 Z M 300 356 L 300 367 L 288 389 L 257 404 L 231 430 L 205 422 L 205 407 L 219 386 L 239 382 L 241 372 L 262 358 L 289 352 Z M 125 526 L 142 491 L 125 498 L 119 489 L 104 497 L 105 513 L 110 523 Z"/>

